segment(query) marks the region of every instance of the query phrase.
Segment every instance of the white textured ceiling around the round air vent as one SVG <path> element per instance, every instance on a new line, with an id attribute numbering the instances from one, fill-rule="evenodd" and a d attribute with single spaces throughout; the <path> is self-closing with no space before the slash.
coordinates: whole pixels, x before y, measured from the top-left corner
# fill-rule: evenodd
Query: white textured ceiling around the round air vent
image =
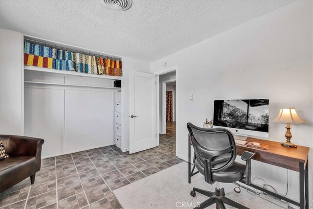
<path id="1" fill-rule="evenodd" d="M 290 2 L 133 0 L 129 10 L 118 12 L 103 0 L 1 0 L 0 27 L 155 61 Z"/>

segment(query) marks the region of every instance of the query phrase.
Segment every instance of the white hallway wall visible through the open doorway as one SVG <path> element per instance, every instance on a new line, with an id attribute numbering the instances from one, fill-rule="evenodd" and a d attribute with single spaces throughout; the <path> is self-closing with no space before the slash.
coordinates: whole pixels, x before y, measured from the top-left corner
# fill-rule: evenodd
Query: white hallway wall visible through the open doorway
<path id="1" fill-rule="evenodd" d="M 157 70 L 156 70 L 157 71 Z M 163 75 L 159 75 L 159 91 L 158 91 L 158 95 L 159 95 L 159 133 L 160 134 L 166 134 L 166 125 L 163 124 L 164 121 L 166 122 L 166 112 L 163 113 L 163 99 L 162 99 L 162 83 L 163 81 L 168 81 L 168 80 L 175 80 L 176 79 L 176 71 L 174 72 L 169 72 Z M 166 99 L 166 95 L 165 95 L 165 99 Z M 166 109 L 165 109 L 166 111 Z"/>

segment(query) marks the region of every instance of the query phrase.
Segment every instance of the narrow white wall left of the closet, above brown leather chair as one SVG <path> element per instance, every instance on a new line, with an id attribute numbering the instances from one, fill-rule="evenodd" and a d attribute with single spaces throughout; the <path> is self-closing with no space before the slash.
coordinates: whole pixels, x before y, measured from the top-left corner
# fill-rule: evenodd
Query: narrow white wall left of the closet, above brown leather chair
<path id="1" fill-rule="evenodd" d="M 23 134 L 22 34 L 0 28 L 0 134 Z"/>

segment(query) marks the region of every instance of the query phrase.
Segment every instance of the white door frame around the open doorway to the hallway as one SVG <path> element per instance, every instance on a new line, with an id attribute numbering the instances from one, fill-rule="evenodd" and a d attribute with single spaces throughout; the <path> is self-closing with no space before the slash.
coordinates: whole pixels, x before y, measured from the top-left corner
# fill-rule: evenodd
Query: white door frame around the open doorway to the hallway
<path id="1" fill-rule="evenodd" d="M 160 124 L 160 118 L 159 118 L 159 114 L 160 114 L 160 111 L 159 111 L 159 76 L 160 75 L 163 75 L 163 74 L 166 74 L 166 73 L 169 73 L 169 72 L 174 72 L 176 71 L 176 92 L 175 92 L 175 96 L 176 96 L 176 101 L 177 98 L 178 98 L 178 91 L 177 91 L 177 83 L 178 83 L 178 66 L 174 66 L 174 67 L 171 67 L 171 68 L 166 68 L 166 69 L 163 69 L 163 70 L 159 70 L 159 71 L 156 71 L 154 72 L 153 74 L 156 75 L 156 146 L 158 146 L 160 143 L 159 141 L 159 133 L 160 133 L 160 127 L 159 127 L 159 124 Z M 175 117 L 175 120 L 177 121 L 177 118 L 178 118 L 178 108 L 176 108 L 176 117 Z M 177 128 L 176 128 L 176 131 L 177 131 Z M 176 143 L 176 151 L 177 151 L 177 143 Z"/>

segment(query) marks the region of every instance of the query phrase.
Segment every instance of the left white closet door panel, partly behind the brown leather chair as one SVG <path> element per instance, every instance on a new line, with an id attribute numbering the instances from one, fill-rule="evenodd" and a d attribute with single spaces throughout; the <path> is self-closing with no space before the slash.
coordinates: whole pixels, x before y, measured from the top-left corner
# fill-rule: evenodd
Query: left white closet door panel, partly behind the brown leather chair
<path id="1" fill-rule="evenodd" d="M 62 154 L 64 90 L 24 89 L 24 134 L 45 139 L 42 158 Z"/>

